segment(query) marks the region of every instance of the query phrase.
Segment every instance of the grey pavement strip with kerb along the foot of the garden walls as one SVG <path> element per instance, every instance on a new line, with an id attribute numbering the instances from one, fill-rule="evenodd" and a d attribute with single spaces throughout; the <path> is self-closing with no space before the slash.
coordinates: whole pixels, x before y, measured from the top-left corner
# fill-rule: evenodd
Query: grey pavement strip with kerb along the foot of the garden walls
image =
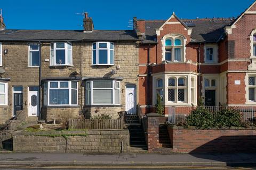
<path id="1" fill-rule="evenodd" d="M 2 153 L 6 166 L 229 166 L 256 167 L 255 154 L 68 154 Z"/>

